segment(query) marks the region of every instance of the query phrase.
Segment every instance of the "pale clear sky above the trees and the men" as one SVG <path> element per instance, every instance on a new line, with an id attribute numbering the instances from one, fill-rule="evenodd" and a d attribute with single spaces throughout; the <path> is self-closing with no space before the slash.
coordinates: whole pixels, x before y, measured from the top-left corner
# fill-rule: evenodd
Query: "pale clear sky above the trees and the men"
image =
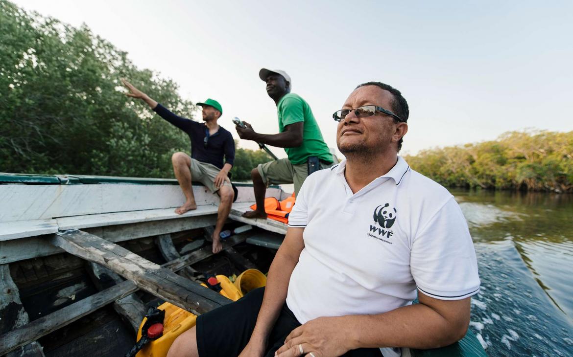
<path id="1" fill-rule="evenodd" d="M 573 130 L 571 1 L 14 2 L 86 23 L 140 69 L 175 80 L 186 99 L 217 99 L 219 124 L 236 138 L 234 116 L 278 132 L 263 67 L 291 76 L 331 147 L 332 113 L 366 81 L 390 84 L 408 101 L 402 153 L 509 130 Z"/>

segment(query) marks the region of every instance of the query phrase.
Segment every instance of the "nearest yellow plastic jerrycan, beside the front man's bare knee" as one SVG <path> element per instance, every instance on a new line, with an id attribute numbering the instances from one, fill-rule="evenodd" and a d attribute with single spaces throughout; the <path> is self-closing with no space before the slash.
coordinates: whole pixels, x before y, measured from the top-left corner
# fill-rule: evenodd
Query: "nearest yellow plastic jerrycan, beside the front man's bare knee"
<path id="1" fill-rule="evenodd" d="M 163 320 L 163 336 L 152 340 L 138 352 L 136 357 L 165 357 L 169 347 L 175 341 L 177 336 L 195 326 L 197 316 L 191 312 L 170 303 L 164 303 L 158 307 L 159 310 L 165 310 L 165 319 Z M 147 318 L 143 318 L 139 325 L 138 341 L 142 336 L 142 327 Z"/>

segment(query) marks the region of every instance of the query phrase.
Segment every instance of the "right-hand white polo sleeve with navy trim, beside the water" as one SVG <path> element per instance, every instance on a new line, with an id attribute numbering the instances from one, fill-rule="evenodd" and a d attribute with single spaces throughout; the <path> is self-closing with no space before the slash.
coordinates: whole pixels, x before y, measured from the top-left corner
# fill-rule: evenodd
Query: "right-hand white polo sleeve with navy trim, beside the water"
<path id="1" fill-rule="evenodd" d="M 434 299 L 461 300 L 480 291 L 472 237 L 453 197 L 415 236 L 410 269 L 419 291 Z"/>

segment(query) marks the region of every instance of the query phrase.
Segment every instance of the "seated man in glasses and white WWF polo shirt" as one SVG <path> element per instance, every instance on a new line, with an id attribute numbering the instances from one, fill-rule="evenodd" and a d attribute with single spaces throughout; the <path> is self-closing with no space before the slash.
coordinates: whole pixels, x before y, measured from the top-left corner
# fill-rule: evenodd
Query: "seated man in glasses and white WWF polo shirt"
<path id="1" fill-rule="evenodd" d="M 395 357 L 465 335 L 472 239 L 453 196 L 398 156 L 406 100 L 368 82 L 342 108 L 346 160 L 304 182 L 266 288 L 199 316 L 170 356 Z"/>

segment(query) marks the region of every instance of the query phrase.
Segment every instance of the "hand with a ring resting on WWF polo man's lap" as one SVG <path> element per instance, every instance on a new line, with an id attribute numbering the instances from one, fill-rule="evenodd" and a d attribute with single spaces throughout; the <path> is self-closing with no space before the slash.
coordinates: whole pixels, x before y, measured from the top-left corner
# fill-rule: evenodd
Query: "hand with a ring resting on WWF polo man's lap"
<path id="1" fill-rule="evenodd" d="M 352 349 L 348 335 L 344 334 L 344 316 L 317 318 L 292 330 L 276 356 L 308 356 L 312 352 L 315 357 L 335 357 Z"/>

